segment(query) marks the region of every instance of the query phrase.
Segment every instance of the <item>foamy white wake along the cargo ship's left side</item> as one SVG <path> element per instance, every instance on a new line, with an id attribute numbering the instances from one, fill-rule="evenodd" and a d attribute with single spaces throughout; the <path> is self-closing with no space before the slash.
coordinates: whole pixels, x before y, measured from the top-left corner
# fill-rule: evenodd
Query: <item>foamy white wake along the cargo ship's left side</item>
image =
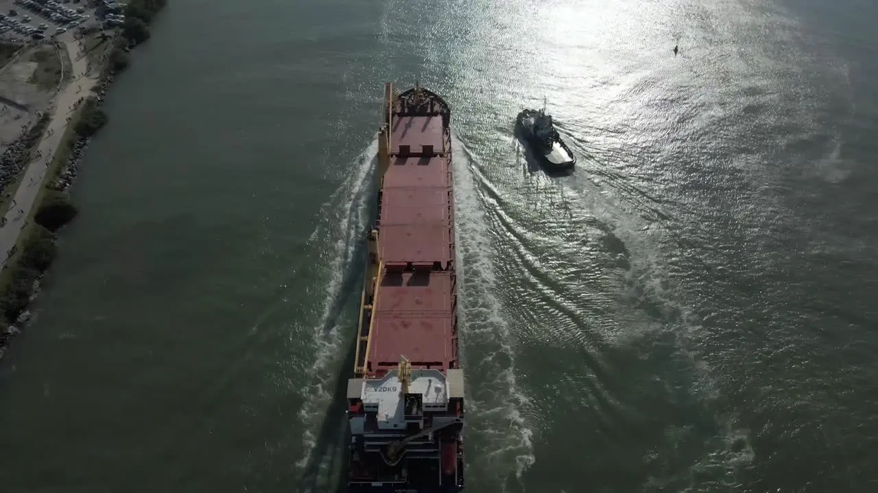
<path id="1" fill-rule="evenodd" d="M 326 203 L 320 206 L 325 218 L 308 239 L 314 245 L 331 245 L 322 256 L 327 258 L 321 286 L 325 302 L 318 322 L 307 342 L 313 363 L 305 368 L 304 385 L 299 389 L 302 406 L 299 429 L 302 431 L 302 457 L 296 463 L 303 484 L 301 490 L 330 490 L 330 484 L 342 475 L 342 447 L 345 432 L 343 401 L 336 396 L 353 365 L 352 332 L 356 326 L 356 300 L 362 282 L 365 231 L 371 211 L 373 171 L 377 162 L 378 142 L 374 141 L 357 156 L 348 178 Z M 350 346 L 350 347 L 349 347 Z M 341 368 L 341 371 L 339 370 Z"/>

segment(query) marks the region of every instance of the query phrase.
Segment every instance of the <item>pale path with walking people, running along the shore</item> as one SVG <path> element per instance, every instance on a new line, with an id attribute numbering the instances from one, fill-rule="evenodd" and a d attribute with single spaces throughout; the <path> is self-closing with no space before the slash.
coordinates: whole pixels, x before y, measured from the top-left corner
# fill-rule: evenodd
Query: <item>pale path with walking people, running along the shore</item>
<path id="1" fill-rule="evenodd" d="M 0 268 L 6 264 L 7 253 L 18 241 L 18 235 L 25 226 L 25 218 L 31 212 L 40 186 L 46 179 L 46 171 L 54 157 L 55 151 L 61 144 L 61 136 L 67 128 L 67 118 L 72 113 L 76 101 L 89 95 L 91 88 L 97 83 L 97 74 L 87 75 L 88 57 L 79 55 L 79 42 L 73 39 L 72 32 L 67 32 L 64 38 L 59 38 L 70 55 L 73 62 L 74 80 L 61 88 L 54 96 L 48 111 L 52 111 L 52 119 L 43 132 L 40 145 L 33 152 L 34 160 L 28 163 L 24 177 L 15 191 L 13 200 L 10 202 L 9 211 L 6 212 L 6 223 L 0 227 Z M 39 157 L 36 157 L 38 154 Z"/>

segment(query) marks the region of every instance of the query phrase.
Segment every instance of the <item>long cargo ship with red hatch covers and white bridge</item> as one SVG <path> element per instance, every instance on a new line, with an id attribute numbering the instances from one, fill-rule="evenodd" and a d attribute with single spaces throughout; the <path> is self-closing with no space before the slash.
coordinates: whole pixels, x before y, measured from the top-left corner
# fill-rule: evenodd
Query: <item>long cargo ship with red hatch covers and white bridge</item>
<path id="1" fill-rule="evenodd" d="M 349 492 L 464 488 L 451 110 L 385 83 L 378 216 L 368 235 L 354 375 Z"/>

